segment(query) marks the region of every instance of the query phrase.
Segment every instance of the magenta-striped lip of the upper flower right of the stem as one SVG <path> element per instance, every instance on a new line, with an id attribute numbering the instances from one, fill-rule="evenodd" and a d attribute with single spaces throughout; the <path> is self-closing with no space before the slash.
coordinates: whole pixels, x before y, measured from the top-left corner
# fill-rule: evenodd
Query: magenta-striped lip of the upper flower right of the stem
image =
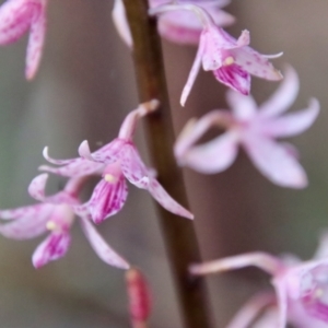
<path id="1" fill-rule="evenodd" d="M 244 94 L 248 95 L 250 91 L 250 75 L 241 66 L 232 63 L 222 66 L 213 71 L 218 81 L 224 85 Z"/>

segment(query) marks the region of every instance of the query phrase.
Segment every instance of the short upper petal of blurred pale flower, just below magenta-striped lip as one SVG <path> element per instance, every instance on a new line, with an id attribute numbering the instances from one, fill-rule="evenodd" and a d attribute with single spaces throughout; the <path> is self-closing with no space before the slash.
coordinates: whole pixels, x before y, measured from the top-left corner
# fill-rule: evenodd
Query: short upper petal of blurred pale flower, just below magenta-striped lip
<path id="1" fill-rule="evenodd" d="M 257 114 L 257 105 L 253 96 L 245 96 L 239 92 L 229 90 L 226 102 L 233 110 L 236 119 L 251 119 Z"/>

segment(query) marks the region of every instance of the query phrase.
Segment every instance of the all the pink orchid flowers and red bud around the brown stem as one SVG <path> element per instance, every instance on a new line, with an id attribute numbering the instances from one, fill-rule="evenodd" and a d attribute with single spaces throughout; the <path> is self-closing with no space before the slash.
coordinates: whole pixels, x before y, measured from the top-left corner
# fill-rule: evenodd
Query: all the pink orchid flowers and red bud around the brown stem
<path id="1" fill-rule="evenodd" d="M 174 147 L 177 163 L 197 172 L 214 174 L 226 169 L 236 159 L 242 145 L 254 165 L 273 184 L 290 188 L 304 188 L 306 173 L 298 163 L 295 148 L 276 139 L 293 137 L 312 126 L 319 113 L 319 103 L 313 98 L 308 106 L 292 114 L 284 114 L 298 92 L 298 78 L 293 68 L 286 67 L 284 80 L 276 93 L 257 106 L 250 93 L 250 75 L 278 81 L 283 75 L 269 61 L 282 54 L 265 56 L 249 47 L 249 32 L 243 31 L 235 39 L 222 26 L 234 17 L 222 8 L 229 0 L 149 0 L 149 14 L 159 16 L 159 33 L 168 40 L 198 45 L 198 51 L 183 90 L 184 106 L 200 67 L 212 71 L 214 78 L 229 86 L 226 102 L 231 110 L 214 109 L 200 119 L 190 119 Z M 47 0 L 8 0 L 0 8 L 0 44 L 7 45 L 30 31 L 25 75 L 32 79 L 38 68 L 46 34 Z M 133 47 L 121 0 L 115 0 L 114 23 L 129 47 Z M 152 99 L 139 105 L 124 120 L 118 137 L 103 148 L 91 152 L 87 141 L 79 148 L 79 157 L 55 160 L 45 148 L 45 159 L 56 166 L 42 165 L 46 172 L 35 177 L 30 195 L 38 201 L 34 206 L 1 210 L 0 234 L 26 239 L 48 232 L 48 236 L 33 254 L 33 263 L 39 268 L 62 257 L 70 245 L 70 227 L 79 216 L 82 230 L 97 256 L 106 263 L 130 269 L 130 263 L 117 254 L 98 234 L 94 224 L 120 211 L 128 196 L 126 179 L 138 188 L 148 190 L 167 211 L 194 219 L 177 203 L 156 179 L 155 169 L 142 162 L 132 141 L 140 118 L 156 110 L 159 102 Z M 212 127 L 224 133 L 198 144 Z M 68 178 L 65 188 L 46 196 L 48 173 Z M 82 203 L 79 195 L 91 176 L 98 176 L 90 199 Z M 295 257 L 274 257 L 253 253 L 191 265 L 191 274 L 256 266 L 272 276 L 272 292 L 251 298 L 235 316 L 229 328 L 279 327 L 286 323 L 296 327 L 327 327 L 328 325 L 328 236 L 321 239 L 313 260 L 302 262 Z M 131 285 L 131 313 L 137 320 L 147 320 L 150 312 L 147 283 L 138 270 L 127 274 Z M 137 291 L 137 292 L 136 292 Z M 137 296 L 136 296 L 137 295 Z M 134 297 L 134 298 L 133 298 Z M 134 305 L 133 305 L 134 304 Z M 137 304 L 137 307 L 136 307 Z M 137 309 L 136 309 L 137 308 Z M 261 317 L 260 312 L 266 308 Z M 255 323 L 256 320 L 256 323 Z"/>

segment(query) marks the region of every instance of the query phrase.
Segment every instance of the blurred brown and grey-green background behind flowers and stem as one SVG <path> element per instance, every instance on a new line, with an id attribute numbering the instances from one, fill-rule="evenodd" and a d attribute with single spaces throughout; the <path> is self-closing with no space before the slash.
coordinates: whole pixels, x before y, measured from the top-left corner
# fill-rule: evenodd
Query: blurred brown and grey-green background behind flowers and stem
<path id="1" fill-rule="evenodd" d="M 128 110 L 137 105 L 129 50 L 114 31 L 112 1 L 49 1 L 45 56 L 35 81 L 23 79 L 26 39 L 0 49 L 0 207 L 32 203 L 26 188 L 44 163 L 42 150 L 71 157 L 84 139 L 93 149 L 112 140 Z M 328 30 L 326 0 L 234 0 L 237 17 L 229 28 L 247 28 L 251 46 L 263 54 L 284 51 L 276 66 L 290 62 L 301 79 L 293 108 L 311 96 L 321 103 L 317 122 L 292 142 L 309 177 L 302 191 L 265 179 L 241 153 L 225 173 L 203 176 L 186 169 L 191 209 L 203 258 L 262 249 L 311 257 L 317 234 L 328 226 Z M 195 49 L 164 42 L 167 81 L 178 131 L 191 116 L 224 107 L 225 89 L 201 72 L 181 109 L 178 98 Z M 253 80 L 260 103 L 277 84 Z M 137 143 L 142 149 L 142 129 Z M 147 159 L 145 150 L 143 149 Z M 149 162 L 148 162 L 149 163 Z M 149 163 L 150 164 L 150 163 Z M 181 219 L 183 220 L 183 219 Z M 151 198 L 130 186 L 124 210 L 101 226 L 106 239 L 149 277 L 154 295 L 151 327 L 179 328 L 163 241 Z M 38 241 L 0 238 L 1 328 L 129 327 L 122 272 L 104 265 L 79 225 L 61 260 L 35 270 L 31 255 Z M 224 327 L 238 306 L 267 285 L 257 270 L 209 280 L 216 327 Z M 201 327 L 200 327 L 201 328 Z"/>

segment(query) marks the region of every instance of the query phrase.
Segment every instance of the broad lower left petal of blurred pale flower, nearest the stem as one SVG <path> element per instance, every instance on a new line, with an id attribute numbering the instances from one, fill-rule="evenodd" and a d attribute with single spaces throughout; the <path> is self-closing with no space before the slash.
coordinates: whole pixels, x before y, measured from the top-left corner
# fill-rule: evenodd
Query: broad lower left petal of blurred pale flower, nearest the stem
<path id="1" fill-rule="evenodd" d="M 179 157 L 179 164 L 204 174 L 219 173 L 231 166 L 237 152 L 238 140 L 235 133 L 226 132 L 207 143 L 190 148 Z"/>

